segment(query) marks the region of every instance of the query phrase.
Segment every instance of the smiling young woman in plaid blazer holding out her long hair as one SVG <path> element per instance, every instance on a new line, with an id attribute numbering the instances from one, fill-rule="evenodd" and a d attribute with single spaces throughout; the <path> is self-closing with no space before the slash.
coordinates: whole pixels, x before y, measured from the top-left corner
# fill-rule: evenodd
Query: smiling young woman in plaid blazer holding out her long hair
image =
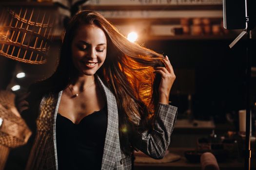
<path id="1" fill-rule="evenodd" d="M 134 150 L 161 159 L 177 115 L 168 57 L 93 11 L 73 17 L 62 38 L 57 70 L 31 88 L 39 116 L 27 170 L 131 170 Z"/>

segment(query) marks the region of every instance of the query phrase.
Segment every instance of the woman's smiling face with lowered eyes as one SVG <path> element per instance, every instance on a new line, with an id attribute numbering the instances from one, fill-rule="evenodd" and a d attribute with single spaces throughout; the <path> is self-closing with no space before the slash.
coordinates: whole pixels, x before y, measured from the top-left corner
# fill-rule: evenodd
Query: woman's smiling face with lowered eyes
<path id="1" fill-rule="evenodd" d="M 81 25 L 72 41 L 72 60 L 80 74 L 94 75 L 107 54 L 107 38 L 96 25 Z"/>

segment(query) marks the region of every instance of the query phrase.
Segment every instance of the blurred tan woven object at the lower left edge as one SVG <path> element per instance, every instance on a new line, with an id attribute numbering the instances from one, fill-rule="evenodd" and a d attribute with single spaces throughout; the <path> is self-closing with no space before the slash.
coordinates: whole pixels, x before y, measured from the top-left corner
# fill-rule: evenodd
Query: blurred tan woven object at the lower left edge
<path id="1" fill-rule="evenodd" d="M 0 90 L 0 170 L 8 158 L 11 148 L 27 143 L 31 131 L 15 107 L 15 95 Z"/>

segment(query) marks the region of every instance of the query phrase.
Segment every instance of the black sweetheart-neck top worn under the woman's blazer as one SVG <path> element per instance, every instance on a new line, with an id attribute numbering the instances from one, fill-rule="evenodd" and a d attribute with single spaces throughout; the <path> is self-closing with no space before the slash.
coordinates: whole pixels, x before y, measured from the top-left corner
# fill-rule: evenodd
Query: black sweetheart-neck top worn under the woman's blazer
<path id="1" fill-rule="evenodd" d="M 59 170 L 100 170 L 106 131 L 106 106 L 84 117 L 79 124 L 58 113 L 56 137 Z"/>

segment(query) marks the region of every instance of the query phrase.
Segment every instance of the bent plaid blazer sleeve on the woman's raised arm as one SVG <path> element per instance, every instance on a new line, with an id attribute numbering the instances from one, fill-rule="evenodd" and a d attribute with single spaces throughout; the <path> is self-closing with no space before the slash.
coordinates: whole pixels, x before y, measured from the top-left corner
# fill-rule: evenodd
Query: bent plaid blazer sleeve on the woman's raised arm
<path id="1" fill-rule="evenodd" d="M 158 102 L 155 114 L 154 129 L 134 134 L 132 143 L 135 149 L 154 159 L 162 159 L 170 144 L 177 107 Z"/>

